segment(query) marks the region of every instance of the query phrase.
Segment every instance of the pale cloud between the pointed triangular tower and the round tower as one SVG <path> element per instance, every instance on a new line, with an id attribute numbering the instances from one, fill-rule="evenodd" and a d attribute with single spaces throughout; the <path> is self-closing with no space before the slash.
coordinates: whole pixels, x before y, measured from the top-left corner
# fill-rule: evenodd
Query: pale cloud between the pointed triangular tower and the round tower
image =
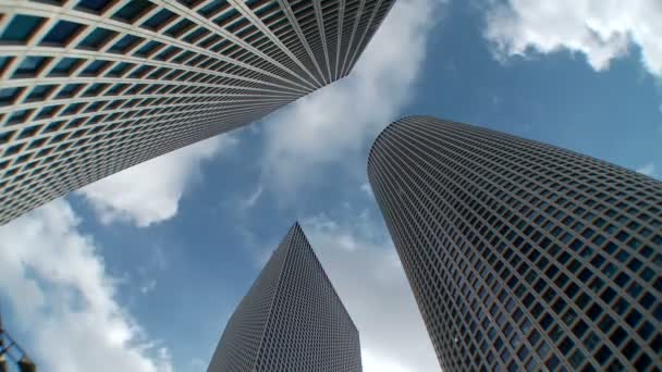
<path id="1" fill-rule="evenodd" d="M 302 226 L 358 327 L 364 371 L 440 371 L 385 227 L 367 211 L 355 215 L 315 215 Z"/>

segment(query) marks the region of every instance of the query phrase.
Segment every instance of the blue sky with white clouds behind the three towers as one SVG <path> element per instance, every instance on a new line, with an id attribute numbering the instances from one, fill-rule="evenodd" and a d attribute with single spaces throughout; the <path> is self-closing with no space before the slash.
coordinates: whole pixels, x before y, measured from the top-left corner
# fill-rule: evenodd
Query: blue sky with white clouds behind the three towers
<path id="1" fill-rule="evenodd" d="M 364 371 L 439 371 L 366 176 L 429 114 L 662 178 L 658 0 L 397 0 L 354 72 L 0 226 L 5 327 L 42 371 L 203 371 L 299 221 Z"/>

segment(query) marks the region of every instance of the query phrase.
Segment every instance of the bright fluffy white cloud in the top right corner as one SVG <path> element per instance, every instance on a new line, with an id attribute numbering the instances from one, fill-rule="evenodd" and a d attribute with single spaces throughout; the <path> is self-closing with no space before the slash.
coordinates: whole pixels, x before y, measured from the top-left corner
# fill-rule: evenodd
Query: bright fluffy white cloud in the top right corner
<path id="1" fill-rule="evenodd" d="M 566 49 L 597 71 L 636 46 L 645 69 L 662 76 L 660 20 L 659 0 L 508 0 L 489 8 L 485 35 L 499 58 Z"/>

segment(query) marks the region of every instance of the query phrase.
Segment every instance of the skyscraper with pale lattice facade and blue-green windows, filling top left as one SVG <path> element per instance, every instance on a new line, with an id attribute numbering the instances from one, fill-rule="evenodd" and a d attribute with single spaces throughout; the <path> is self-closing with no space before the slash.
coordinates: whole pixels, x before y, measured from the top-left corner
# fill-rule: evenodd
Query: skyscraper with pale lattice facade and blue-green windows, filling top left
<path id="1" fill-rule="evenodd" d="M 0 224 L 352 70 L 393 0 L 0 0 Z"/>

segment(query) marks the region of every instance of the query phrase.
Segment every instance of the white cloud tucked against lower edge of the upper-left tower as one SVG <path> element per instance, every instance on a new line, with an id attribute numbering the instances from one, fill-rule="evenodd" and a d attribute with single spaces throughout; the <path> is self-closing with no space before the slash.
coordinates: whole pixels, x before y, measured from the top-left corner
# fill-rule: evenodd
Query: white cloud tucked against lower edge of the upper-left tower
<path id="1" fill-rule="evenodd" d="M 139 163 L 77 190 L 102 223 L 125 221 L 139 227 L 177 212 L 186 186 L 199 177 L 203 161 L 236 144 L 229 135 L 212 137 Z"/>

